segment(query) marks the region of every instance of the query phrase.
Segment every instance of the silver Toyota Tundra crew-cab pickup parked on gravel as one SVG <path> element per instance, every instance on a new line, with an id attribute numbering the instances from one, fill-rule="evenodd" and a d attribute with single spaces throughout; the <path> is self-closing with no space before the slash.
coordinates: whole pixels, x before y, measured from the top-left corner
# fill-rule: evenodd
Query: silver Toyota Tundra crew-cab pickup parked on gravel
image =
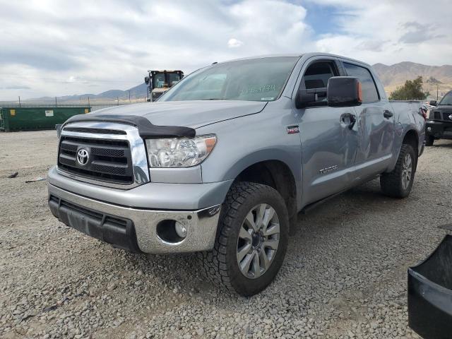
<path id="1" fill-rule="evenodd" d="M 66 121 L 49 207 L 138 253 L 198 252 L 213 283 L 254 295 L 297 213 L 379 177 L 410 194 L 419 102 L 389 102 L 371 66 L 331 54 L 254 57 L 191 73 L 153 103 Z"/>

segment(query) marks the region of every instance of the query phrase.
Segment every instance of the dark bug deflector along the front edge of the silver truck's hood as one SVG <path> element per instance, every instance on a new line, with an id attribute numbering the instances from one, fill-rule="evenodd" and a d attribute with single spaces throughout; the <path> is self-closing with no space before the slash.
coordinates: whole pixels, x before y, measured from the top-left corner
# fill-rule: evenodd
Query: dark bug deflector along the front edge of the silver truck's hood
<path id="1" fill-rule="evenodd" d="M 136 126 L 141 138 L 194 138 L 196 131 L 183 126 L 157 126 L 145 117 L 120 114 L 80 114 L 71 117 L 65 124 L 78 121 L 118 122 Z"/>

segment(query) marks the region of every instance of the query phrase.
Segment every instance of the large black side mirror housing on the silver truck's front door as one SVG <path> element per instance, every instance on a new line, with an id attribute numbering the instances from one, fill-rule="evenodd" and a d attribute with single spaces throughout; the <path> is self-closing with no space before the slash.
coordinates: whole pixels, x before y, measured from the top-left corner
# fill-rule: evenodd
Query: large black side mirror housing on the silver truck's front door
<path id="1" fill-rule="evenodd" d="M 345 107 L 362 104 L 361 83 L 352 76 L 333 76 L 326 88 L 328 106 Z"/>

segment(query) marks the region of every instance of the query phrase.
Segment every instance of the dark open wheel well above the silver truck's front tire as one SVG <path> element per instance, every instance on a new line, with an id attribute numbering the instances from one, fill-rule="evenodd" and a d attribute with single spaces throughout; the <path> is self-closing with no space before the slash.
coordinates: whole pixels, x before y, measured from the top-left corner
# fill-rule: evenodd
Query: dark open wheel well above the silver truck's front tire
<path id="1" fill-rule="evenodd" d="M 257 162 L 244 169 L 236 182 L 256 182 L 273 187 L 283 197 L 289 217 L 297 213 L 297 186 L 290 168 L 279 160 Z"/>

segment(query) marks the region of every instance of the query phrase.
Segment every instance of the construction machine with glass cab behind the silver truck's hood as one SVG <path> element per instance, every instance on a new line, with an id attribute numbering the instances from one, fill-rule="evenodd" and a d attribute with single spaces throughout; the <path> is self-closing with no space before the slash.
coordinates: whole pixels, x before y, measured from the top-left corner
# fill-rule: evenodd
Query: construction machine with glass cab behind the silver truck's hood
<path id="1" fill-rule="evenodd" d="M 165 93 L 172 85 L 184 78 L 183 71 L 148 71 L 144 82 L 148 85 L 148 101 L 155 101 Z"/>

